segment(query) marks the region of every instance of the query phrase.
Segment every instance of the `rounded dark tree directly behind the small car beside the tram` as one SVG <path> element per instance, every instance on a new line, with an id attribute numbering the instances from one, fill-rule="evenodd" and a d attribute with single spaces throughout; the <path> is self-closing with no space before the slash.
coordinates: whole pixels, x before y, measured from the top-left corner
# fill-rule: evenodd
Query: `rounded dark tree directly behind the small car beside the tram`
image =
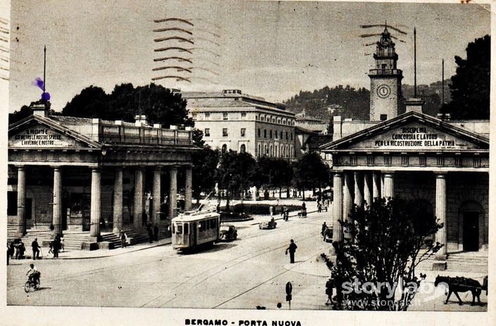
<path id="1" fill-rule="evenodd" d="M 255 159 L 247 152 L 238 153 L 229 150 L 221 155 L 216 170 L 216 179 L 219 187 L 227 190 L 227 209 L 229 209 L 229 199 L 233 194 L 248 190 L 250 187 L 255 164 Z"/>

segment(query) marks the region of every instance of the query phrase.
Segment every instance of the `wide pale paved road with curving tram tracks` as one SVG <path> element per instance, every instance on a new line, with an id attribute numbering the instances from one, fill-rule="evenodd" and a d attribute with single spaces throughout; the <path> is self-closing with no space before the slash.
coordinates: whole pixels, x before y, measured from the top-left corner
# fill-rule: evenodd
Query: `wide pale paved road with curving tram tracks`
<path id="1" fill-rule="evenodd" d="M 286 282 L 293 282 L 293 309 L 324 309 L 326 271 L 316 256 L 329 252 L 319 236 L 328 213 L 278 221 L 274 230 L 238 223 L 239 238 L 194 254 L 170 245 L 103 259 L 42 260 L 42 288 L 23 290 L 27 264 L 8 267 L 7 302 L 32 306 L 124 306 L 171 308 L 288 308 Z M 298 244 L 295 264 L 284 254 Z M 316 268 L 303 269 L 302 266 Z M 324 269 L 323 269 L 324 268 Z"/>

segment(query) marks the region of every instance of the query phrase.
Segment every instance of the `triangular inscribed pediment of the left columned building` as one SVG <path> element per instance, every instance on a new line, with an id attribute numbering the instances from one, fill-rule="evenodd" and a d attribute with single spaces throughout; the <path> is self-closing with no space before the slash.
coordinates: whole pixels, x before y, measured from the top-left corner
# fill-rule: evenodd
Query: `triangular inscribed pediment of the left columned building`
<path id="1" fill-rule="evenodd" d="M 94 149 L 101 145 L 46 117 L 30 116 L 8 129 L 11 149 Z"/>

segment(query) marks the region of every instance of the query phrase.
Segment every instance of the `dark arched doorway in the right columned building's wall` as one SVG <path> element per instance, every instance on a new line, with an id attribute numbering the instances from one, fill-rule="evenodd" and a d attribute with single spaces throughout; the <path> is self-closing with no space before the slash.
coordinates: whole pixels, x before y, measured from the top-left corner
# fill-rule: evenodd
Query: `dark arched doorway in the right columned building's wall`
<path id="1" fill-rule="evenodd" d="M 475 201 L 464 202 L 459 208 L 459 244 L 464 252 L 477 252 L 481 247 L 484 209 Z"/>

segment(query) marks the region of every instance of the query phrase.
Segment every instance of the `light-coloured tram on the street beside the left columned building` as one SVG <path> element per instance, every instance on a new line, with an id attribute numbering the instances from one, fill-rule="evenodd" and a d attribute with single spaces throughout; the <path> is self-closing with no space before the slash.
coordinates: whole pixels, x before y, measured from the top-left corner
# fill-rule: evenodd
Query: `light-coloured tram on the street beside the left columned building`
<path id="1" fill-rule="evenodd" d="M 216 211 L 185 211 L 172 219 L 172 248 L 186 251 L 220 239 L 220 214 Z"/>

